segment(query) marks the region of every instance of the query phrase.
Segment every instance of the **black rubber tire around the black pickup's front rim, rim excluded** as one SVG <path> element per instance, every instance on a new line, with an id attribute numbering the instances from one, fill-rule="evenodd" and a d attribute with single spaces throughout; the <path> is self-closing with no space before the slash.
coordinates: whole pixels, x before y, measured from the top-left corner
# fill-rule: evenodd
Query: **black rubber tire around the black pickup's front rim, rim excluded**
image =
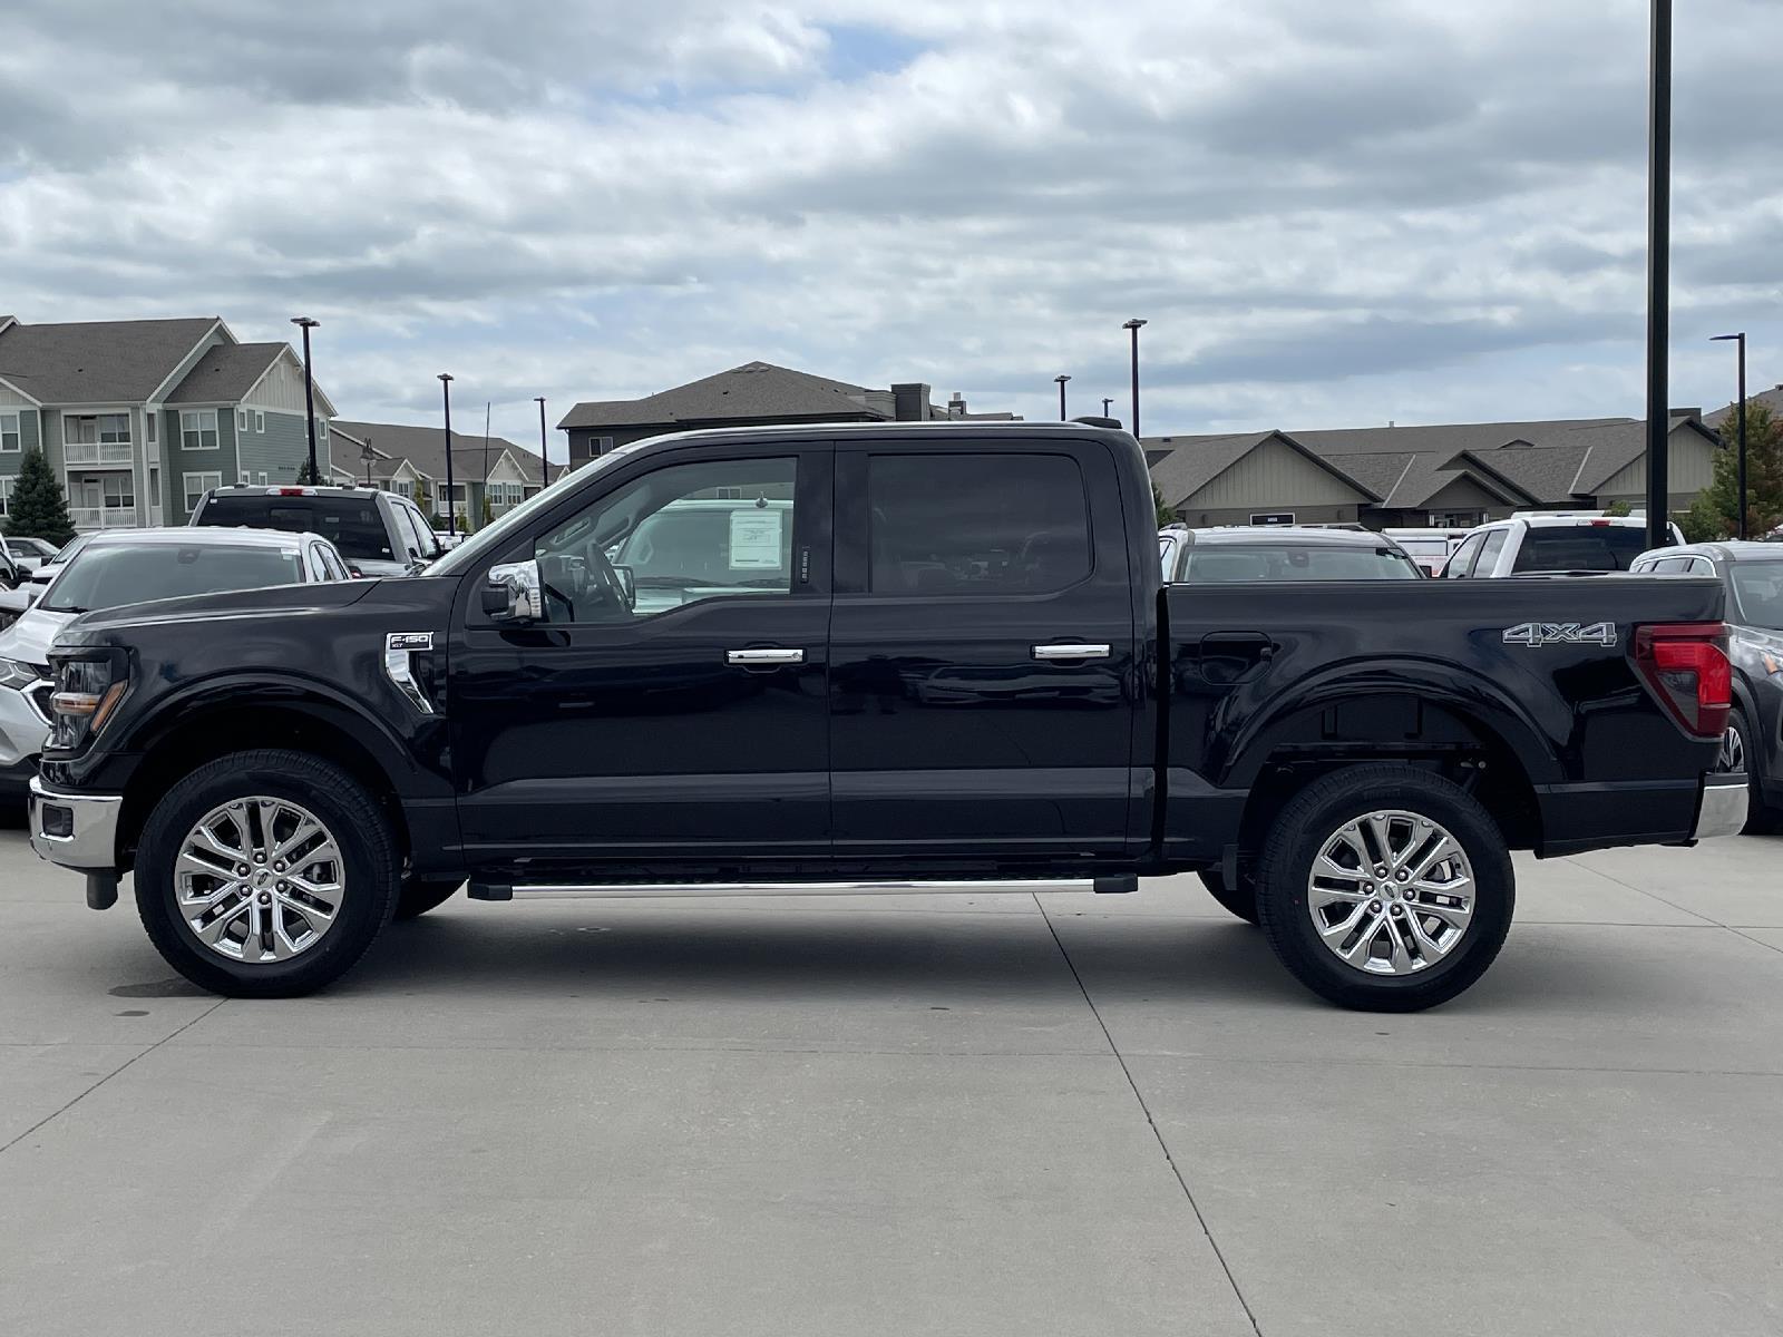
<path id="1" fill-rule="evenodd" d="M 321 939 L 285 961 L 230 961 L 200 943 L 175 902 L 173 866 L 187 833 L 210 809 L 248 795 L 289 799 L 310 809 L 341 850 L 342 895 Z M 308 752 L 232 752 L 168 790 L 155 804 L 136 857 L 136 907 L 168 964 L 212 993 L 291 998 L 332 984 L 371 947 L 396 911 L 401 861 L 383 811 L 364 786 Z"/>

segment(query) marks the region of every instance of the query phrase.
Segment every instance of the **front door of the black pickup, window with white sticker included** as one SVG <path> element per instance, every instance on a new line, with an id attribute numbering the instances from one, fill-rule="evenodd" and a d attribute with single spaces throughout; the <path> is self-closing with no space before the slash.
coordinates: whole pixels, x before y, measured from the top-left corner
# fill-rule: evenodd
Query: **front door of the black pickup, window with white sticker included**
<path id="1" fill-rule="evenodd" d="M 768 455 L 770 451 L 770 455 Z M 829 854 L 827 446 L 619 465 L 540 515 L 542 617 L 451 652 L 472 863 L 695 866 Z"/>

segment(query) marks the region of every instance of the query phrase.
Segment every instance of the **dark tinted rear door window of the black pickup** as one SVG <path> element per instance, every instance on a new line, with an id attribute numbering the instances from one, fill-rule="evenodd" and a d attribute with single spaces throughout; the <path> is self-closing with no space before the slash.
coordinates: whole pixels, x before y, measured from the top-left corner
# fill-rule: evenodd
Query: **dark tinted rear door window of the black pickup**
<path id="1" fill-rule="evenodd" d="M 867 499 L 875 594 L 1032 594 L 1089 574 L 1068 455 L 875 455 Z"/>

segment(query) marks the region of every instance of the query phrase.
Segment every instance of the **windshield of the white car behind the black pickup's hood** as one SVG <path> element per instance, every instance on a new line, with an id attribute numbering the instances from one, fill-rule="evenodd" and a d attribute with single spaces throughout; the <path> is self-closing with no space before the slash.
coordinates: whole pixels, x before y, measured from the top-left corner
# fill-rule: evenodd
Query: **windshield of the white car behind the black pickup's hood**
<path id="1" fill-rule="evenodd" d="M 303 579 L 298 545 L 246 544 L 96 544 L 75 554 L 39 608 L 91 613 L 96 608 L 178 599 L 184 594 L 259 590 Z"/>

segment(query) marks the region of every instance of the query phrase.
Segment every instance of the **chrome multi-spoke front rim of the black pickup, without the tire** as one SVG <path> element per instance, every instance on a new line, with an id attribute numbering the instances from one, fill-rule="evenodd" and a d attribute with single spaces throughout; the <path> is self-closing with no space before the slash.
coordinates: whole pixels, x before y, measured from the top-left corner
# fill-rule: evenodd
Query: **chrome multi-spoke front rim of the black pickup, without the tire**
<path id="1" fill-rule="evenodd" d="M 193 936 L 230 961 L 289 961 L 323 939 L 344 893 L 341 847 L 321 820 L 255 795 L 212 808 L 180 841 L 173 897 Z"/>

